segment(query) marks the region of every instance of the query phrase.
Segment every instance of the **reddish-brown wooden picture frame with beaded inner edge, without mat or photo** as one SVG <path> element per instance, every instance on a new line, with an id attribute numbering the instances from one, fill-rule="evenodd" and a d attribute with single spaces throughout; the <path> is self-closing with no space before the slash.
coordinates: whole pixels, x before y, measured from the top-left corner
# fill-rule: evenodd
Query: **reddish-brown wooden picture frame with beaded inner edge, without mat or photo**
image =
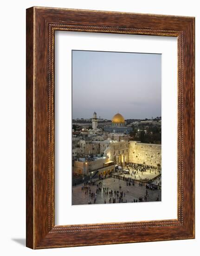
<path id="1" fill-rule="evenodd" d="M 178 39 L 178 218 L 55 226 L 55 30 Z M 32 249 L 194 238 L 194 17 L 26 10 L 26 246 Z"/>

